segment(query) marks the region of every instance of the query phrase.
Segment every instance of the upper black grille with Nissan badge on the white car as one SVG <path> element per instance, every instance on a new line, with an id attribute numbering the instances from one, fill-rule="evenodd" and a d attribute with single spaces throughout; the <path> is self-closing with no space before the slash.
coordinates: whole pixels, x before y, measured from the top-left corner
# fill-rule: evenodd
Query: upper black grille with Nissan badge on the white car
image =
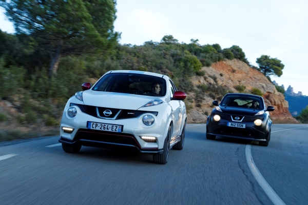
<path id="1" fill-rule="evenodd" d="M 104 108 L 104 107 L 95 107 L 95 106 L 87 106 L 87 105 L 79 105 L 71 103 L 70 106 L 78 106 L 80 110 L 88 115 L 98 117 L 97 116 L 97 108 L 99 110 L 99 114 L 101 117 L 104 118 L 113 118 L 120 110 L 120 114 L 116 119 L 127 119 L 127 118 L 135 118 L 139 117 L 143 113 L 152 113 L 153 115 L 157 116 L 158 112 L 153 111 L 140 111 L 140 110 L 125 110 L 125 109 L 115 109 L 115 108 Z M 112 112 L 111 115 L 105 116 L 104 111 L 110 110 Z"/>

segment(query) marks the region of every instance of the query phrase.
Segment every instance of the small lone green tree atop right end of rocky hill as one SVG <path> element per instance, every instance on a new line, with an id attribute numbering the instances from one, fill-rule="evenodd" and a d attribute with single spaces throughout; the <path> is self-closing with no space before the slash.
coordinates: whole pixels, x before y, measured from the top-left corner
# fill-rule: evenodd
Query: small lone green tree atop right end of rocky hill
<path id="1" fill-rule="evenodd" d="M 282 75 L 284 65 L 281 63 L 281 60 L 277 58 L 261 55 L 261 57 L 257 58 L 256 63 L 259 64 L 259 68 L 265 76 L 276 75 L 280 77 Z"/>

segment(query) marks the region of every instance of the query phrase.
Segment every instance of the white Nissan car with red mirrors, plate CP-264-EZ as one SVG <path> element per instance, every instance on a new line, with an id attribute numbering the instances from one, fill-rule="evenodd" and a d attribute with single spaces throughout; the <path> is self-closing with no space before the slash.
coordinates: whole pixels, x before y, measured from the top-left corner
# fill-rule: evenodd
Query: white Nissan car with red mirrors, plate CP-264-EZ
<path id="1" fill-rule="evenodd" d="M 169 149 L 182 150 L 186 94 L 166 76 L 142 71 L 108 71 L 91 88 L 72 96 L 64 109 L 59 142 L 65 152 L 82 146 L 130 149 L 165 164 Z"/>

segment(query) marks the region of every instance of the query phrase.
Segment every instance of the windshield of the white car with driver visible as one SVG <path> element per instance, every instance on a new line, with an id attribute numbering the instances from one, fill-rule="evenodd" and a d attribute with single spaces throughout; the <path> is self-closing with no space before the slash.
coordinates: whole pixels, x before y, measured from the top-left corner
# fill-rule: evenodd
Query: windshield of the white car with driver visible
<path id="1" fill-rule="evenodd" d="M 110 73 L 101 78 L 92 90 L 135 95 L 165 96 L 166 81 L 161 77 L 151 75 Z"/>

